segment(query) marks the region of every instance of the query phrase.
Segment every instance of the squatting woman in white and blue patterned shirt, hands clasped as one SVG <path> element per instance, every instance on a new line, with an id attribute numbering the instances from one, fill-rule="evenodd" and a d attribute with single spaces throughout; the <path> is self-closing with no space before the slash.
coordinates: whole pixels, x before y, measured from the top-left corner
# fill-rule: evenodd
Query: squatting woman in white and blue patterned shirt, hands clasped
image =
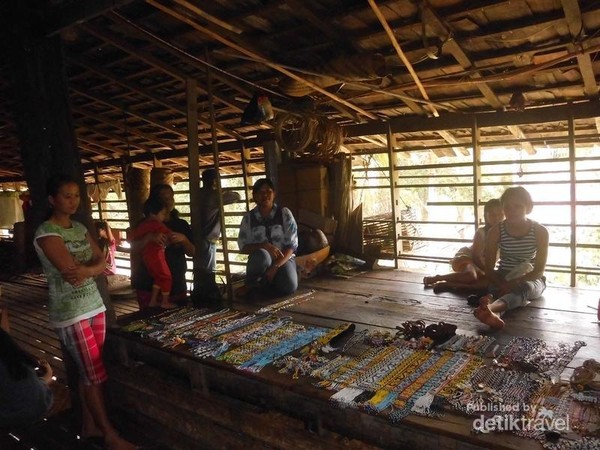
<path id="1" fill-rule="evenodd" d="M 279 295 L 298 289 L 294 253 L 298 248 L 298 226 L 292 212 L 275 204 L 275 186 L 261 178 L 252 186 L 256 207 L 242 218 L 238 245 L 247 255 L 246 284 L 236 291 L 244 296 L 255 287 L 270 287 Z"/>

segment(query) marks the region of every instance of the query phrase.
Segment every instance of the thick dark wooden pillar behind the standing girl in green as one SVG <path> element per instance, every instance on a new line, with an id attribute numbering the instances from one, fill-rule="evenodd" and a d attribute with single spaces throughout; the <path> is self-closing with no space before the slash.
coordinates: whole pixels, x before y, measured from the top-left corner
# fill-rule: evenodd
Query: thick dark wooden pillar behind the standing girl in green
<path id="1" fill-rule="evenodd" d="M 78 220 L 92 225 L 71 111 L 60 37 L 38 40 L 21 36 L 11 46 L 15 119 L 21 141 L 24 175 L 32 208 L 26 221 L 28 263 L 37 260 L 33 233 L 47 214 L 46 182 L 56 174 L 75 178 L 81 187 Z"/>

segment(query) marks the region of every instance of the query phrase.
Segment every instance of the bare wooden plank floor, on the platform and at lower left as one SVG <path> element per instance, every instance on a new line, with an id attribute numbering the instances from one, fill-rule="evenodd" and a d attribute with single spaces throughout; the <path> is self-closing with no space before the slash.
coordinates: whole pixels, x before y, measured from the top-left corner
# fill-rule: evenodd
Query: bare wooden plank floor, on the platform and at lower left
<path id="1" fill-rule="evenodd" d="M 318 277 L 303 280 L 298 294 L 311 290 L 314 293 L 307 301 L 286 308 L 285 313 L 306 324 L 333 327 L 341 321 L 352 322 L 357 330 L 379 327 L 395 331 L 405 320 L 423 319 L 426 323 L 453 323 L 458 326 L 457 332 L 462 334 L 491 334 L 500 343 L 512 336 L 539 337 L 549 343 L 585 341 L 587 346 L 578 352 L 572 364 L 563 372 L 563 378 L 568 378 L 572 368 L 581 365 L 585 359 L 598 358 L 600 355 L 600 326 L 593 309 L 598 304 L 600 291 L 549 287 L 543 298 L 526 308 L 507 313 L 504 330 L 492 332 L 473 317 L 472 308 L 464 296 L 453 293 L 436 295 L 431 289 L 423 288 L 422 276 L 398 270 L 375 270 L 349 279 Z M 38 358 L 47 359 L 53 367 L 58 385 L 65 385 L 66 374 L 60 346 L 47 324 L 47 287 L 44 279 L 35 275 L 12 276 L 0 283 L 3 292 L 0 305 L 10 311 L 11 334 L 25 350 Z M 113 300 L 118 316 L 137 311 L 137 303 L 131 296 L 115 297 Z M 281 300 L 259 298 L 236 301 L 233 306 L 254 311 L 260 306 Z M 64 439 L 61 446 L 53 444 L 46 448 L 95 448 L 90 447 L 89 443 L 87 447 L 81 447 L 81 443 L 73 438 L 74 432 L 65 430 L 68 427 L 65 421 L 56 419 L 69 409 L 68 399 L 64 395 L 58 397 L 60 404 L 54 410 L 55 418 L 43 426 L 46 431 L 54 430 L 55 434 L 56 430 L 62 429 Z M 33 432 L 38 433 L 38 428 L 33 428 Z M 7 447 L 7 442 L 15 444 L 14 439 L 6 439 L 6 434 L 0 436 L 0 448 L 32 448 Z"/>

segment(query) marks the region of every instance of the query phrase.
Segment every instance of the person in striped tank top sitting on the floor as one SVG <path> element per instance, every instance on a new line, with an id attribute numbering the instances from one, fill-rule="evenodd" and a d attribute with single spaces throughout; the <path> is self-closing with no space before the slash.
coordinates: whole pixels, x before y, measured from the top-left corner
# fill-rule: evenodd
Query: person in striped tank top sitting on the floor
<path id="1" fill-rule="evenodd" d="M 533 201 L 525 188 L 508 188 L 500 197 L 506 219 L 488 232 L 485 273 L 490 294 L 473 312 L 481 322 L 502 329 L 504 311 L 526 306 L 546 289 L 544 269 L 548 257 L 548 230 L 527 218 Z M 498 259 L 498 268 L 496 262 Z M 496 300 L 494 300 L 496 296 Z"/>

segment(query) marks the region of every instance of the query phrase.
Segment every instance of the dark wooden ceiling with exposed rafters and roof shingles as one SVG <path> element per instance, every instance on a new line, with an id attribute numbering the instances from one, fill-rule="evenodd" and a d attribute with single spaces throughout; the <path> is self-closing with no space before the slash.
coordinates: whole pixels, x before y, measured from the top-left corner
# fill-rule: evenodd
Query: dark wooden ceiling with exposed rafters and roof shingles
<path id="1" fill-rule="evenodd" d="M 18 20 L 3 27 L 5 42 L 22 27 L 38 37 L 60 35 L 88 170 L 153 154 L 169 156 L 164 167 L 187 167 L 187 79 L 197 82 L 201 152 L 211 151 L 212 98 L 223 158 L 290 112 L 343 127 L 464 113 L 543 114 L 541 108 L 569 103 L 591 104 L 600 116 L 598 0 L 2 3 L 5 17 L 19 4 Z M 23 179 L 10 65 L 6 58 L 0 65 L 0 182 Z M 242 125 L 257 91 L 270 99 L 275 119 Z M 592 117 L 584 126 L 597 136 L 600 121 Z M 538 128 L 508 126 L 506 134 L 518 139 Z M 434 135 L 437 144 L 462 138 Z M 348 137 L 344 149 L 385 145 L 385 134 Z"/>

